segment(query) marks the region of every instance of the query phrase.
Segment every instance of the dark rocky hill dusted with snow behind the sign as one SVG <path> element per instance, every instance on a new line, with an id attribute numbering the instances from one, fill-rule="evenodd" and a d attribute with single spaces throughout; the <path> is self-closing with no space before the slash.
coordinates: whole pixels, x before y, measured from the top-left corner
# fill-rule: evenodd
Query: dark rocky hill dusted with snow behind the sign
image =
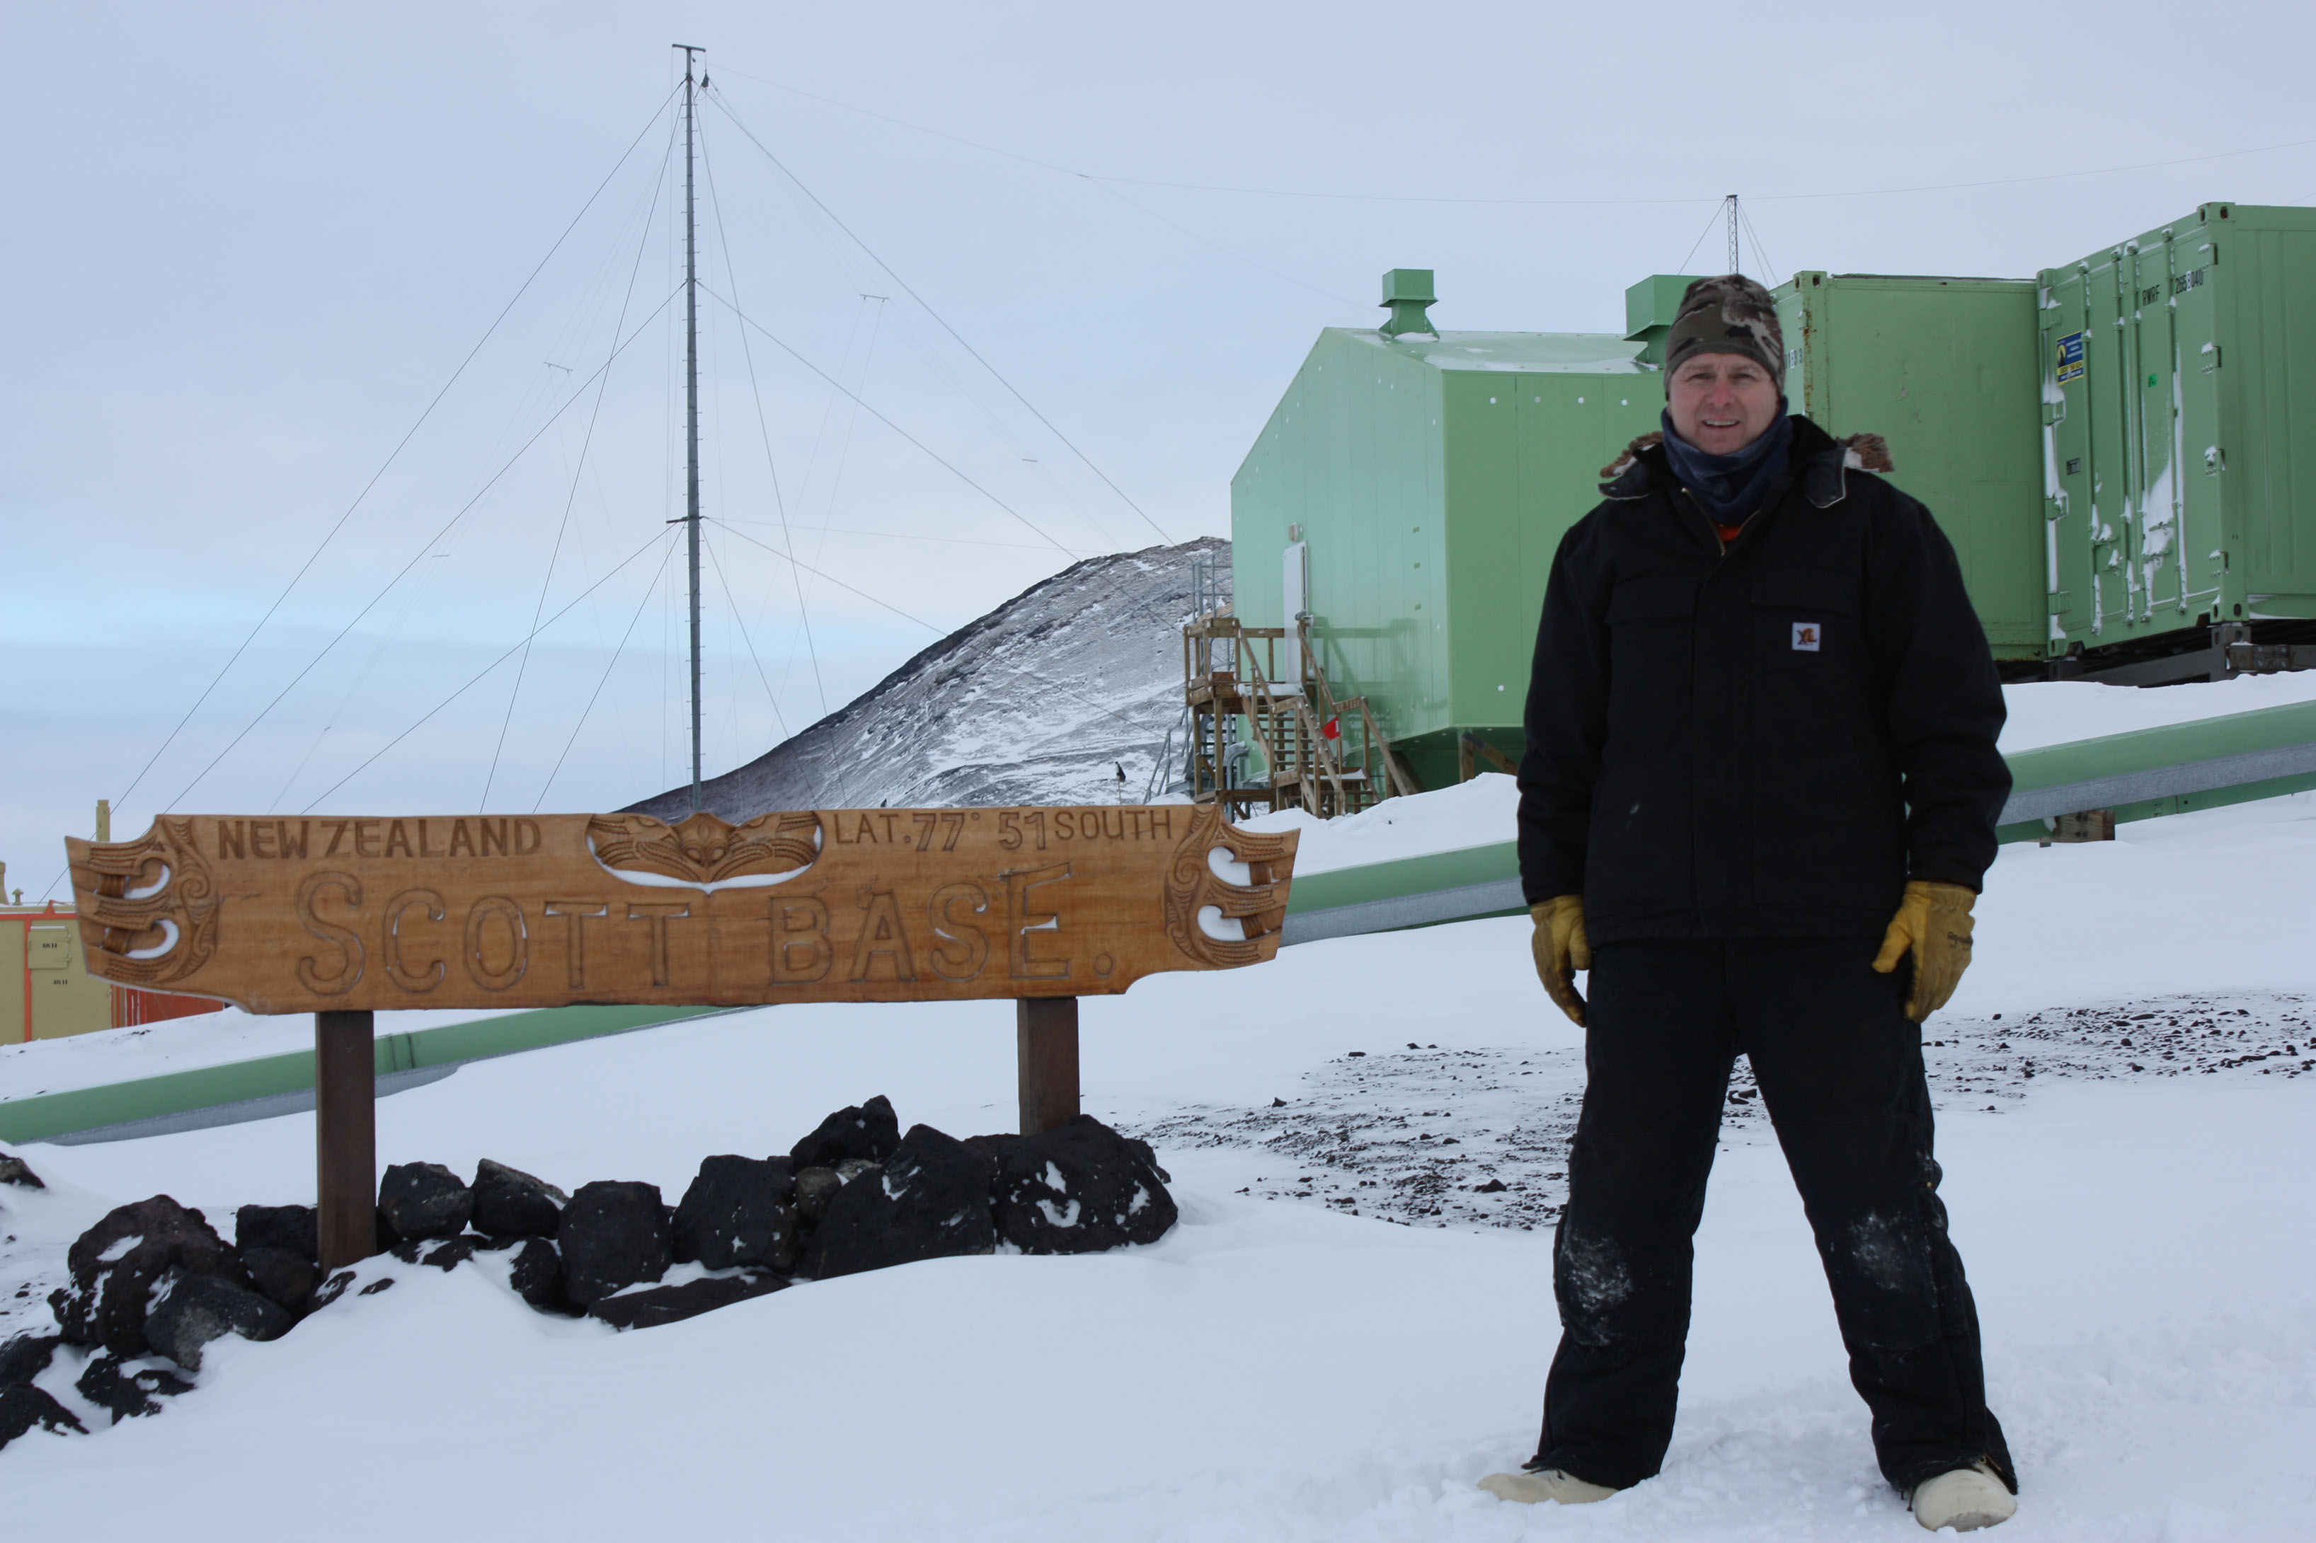
<path id="1" fill-rule="evenodd" d="M 813 807 L 1139 803 L 1181 713 L 1193 560 L 1218 560 L 1227 595 L 1230 544 L 1216 537 L 1089 558 L 1031 585 L 711 777 L 704 805 L 741 821 Z M 630 807 L 683 819 L 690 787 Z"/>

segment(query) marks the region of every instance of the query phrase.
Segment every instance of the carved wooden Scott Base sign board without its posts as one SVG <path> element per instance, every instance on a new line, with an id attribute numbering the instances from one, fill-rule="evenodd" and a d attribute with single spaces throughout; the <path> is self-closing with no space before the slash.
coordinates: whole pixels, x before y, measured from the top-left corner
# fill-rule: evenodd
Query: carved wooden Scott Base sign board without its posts
<path id="1" fill-rule="evenodd" d="M 1278 951 L 1211 805 L 248 819 L 65 842 L 90 972 L 252 1013 L 1121 992 Z"/>

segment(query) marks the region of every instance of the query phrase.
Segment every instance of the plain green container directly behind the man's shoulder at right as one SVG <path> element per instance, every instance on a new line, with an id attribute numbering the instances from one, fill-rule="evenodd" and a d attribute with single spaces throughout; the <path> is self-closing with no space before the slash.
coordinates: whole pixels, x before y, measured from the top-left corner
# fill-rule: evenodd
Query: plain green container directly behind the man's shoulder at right
<path id="1" fill-rule="evenodd" d="M 2040 659 L 2043 446 L 2036 287 L 1795 273 L 1776 287 L 1786 400 L 1837 437 L 1890 442 L 1890 481 L 1955 544 L 1996 659 Z"/>

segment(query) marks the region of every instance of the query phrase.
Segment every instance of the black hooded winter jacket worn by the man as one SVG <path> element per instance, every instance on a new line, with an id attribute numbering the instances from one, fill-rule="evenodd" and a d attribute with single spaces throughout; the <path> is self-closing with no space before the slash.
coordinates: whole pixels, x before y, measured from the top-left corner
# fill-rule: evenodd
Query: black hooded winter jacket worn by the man
<path id="1" fill-rule="evenodd" d="M 1735 541 L 1635 442 L 1552 560 L 1519 879 L 1582 893 L 1593 944 L 1878 937 L 1908 877 L 1994 861 L 2003 696 L 1955 548 L 1864 437 L 1793 428 Z"/>

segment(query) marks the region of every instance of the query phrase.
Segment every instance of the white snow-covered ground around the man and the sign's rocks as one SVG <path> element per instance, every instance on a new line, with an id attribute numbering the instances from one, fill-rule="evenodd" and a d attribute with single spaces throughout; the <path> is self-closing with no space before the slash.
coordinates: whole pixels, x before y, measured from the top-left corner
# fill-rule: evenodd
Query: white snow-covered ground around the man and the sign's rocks
<path id="1" fill-rule="evenodd" d="M 2219 710 L 2272 706 L 2242 685 Z M 2203 689 L 2013 703 L 2103 692 L 2054 736 L 2080 738 Z M 1464 800 L 1420 849 L 1503 837 L 1501 787 L 1436 798 L 1394 814 Z M 1399 824 L 1364 833 L 1392 807 L 1309 856 L 1403 856 Z M 2311 874 L 2316 796 L 2006 847 L 1989 874 L 1929 1055 L 2024 1478 L 2003 1538 L 2316 1536 Z M 632 1335 L 533 1314 L 493 1261 L 371 1261 L 394 1289 L 211 1346 L 157 1418 L 102 1427 L 60 1363 L 44 1386 L 97 1434 L 0 1450 L 0 1534 L 146 1536 L 164 1513 L 220 1538 L 320 1518 L 347 1538 L 1920 1536 L 1742 1080 L 1665 1474 L 1575 1511 L 1473 1490 L 1536 1441 L 1577 1048 L 1524 918 L 1156 976 L 1084 1004 L 1086 1108 L 1174 1175 L 1183 1221 L 1153 1247 L 908 1265 Z M 0 1087 L 30 1064 L 0 1060 Z M 1001 1002 L 736 1013 L 384 1099 L 380 1161 L 674 1198 L 699 1157 L 785 1150 L 871 1092 L 903 1124 L 1007 1129 L 1012 1078 Z M 53 1189 L 0 1189 L 0 1337 L 46 1321 L 65 1245 L 113 1203 L 169 1191 L 229 1224 L 313 1198 L 310 1115 L 23 1157 Z"/>

